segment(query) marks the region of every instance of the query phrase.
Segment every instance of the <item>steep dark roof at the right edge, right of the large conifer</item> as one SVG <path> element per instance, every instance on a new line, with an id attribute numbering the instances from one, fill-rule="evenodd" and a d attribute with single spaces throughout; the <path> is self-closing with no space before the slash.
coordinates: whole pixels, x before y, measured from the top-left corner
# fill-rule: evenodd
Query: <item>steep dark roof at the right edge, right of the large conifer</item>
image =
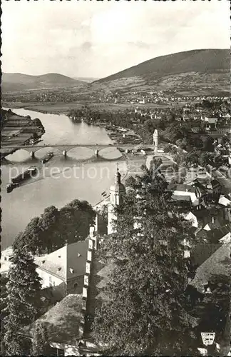
<path id="1" fill-rule="evenodd" d="M 208 244 L 208 246 L 211 246 L 211 244 Z M 190 284 L 195 286 L 198 291 L 202 292 L 203 286 L 214 275 L 230 276 L 230 246 L 230 243 L 222 244 L 220 248 L 197 268 L 195 278 Z"/>

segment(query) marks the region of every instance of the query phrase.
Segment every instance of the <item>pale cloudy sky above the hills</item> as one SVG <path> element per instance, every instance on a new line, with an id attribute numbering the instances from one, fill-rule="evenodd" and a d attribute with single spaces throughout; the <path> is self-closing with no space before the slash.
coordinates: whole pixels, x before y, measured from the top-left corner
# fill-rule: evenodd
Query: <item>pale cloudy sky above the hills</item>
<path id="1" fill-rule="evenodd" d="M 2 0 L 3 72 L 102 78 L 157 56 L 230 48 L 228 0 Z"/>

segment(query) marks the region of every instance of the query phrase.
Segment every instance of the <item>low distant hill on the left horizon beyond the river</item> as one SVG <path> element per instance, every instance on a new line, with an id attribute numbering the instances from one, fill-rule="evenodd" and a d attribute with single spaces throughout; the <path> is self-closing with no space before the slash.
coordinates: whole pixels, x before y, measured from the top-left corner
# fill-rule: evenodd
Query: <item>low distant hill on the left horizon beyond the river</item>
<path id="1" fill-rule="evenodd" d="M 2 74 L 1 81 L 3 92 L 86 85 L 86 82 L 84 81 L 78 81 L 56 73 L 43 74 L 41 76 L 30 76 L 28 74 L 21 73 L 4 73 Z"/>

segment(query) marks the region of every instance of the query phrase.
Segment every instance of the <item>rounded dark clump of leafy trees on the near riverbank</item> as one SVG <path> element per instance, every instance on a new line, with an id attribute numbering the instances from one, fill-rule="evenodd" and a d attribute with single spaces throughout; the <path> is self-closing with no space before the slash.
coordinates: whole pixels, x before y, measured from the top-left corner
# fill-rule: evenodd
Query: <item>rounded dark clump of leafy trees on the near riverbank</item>
<path id="1" fill-rule="evenodd" d="M 49 206 L 19 233 L 14 247 L 26 247 L 33 254 L 51 253 L 66 241 L 74 243 L 85 239 L 94 217 L 95 212 L 87 201 L 73 200 L 60 210 Z"/>

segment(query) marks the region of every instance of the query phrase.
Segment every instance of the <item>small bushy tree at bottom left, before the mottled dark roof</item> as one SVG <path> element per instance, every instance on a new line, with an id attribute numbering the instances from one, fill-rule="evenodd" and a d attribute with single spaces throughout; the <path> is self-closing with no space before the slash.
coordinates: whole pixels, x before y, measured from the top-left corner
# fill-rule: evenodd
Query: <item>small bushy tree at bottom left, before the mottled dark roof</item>
<path id="1" fill-rule="evenodd" d="M 48 330 L 43 323 L 36 321 L 32 336 L 32 354 L 33 356 L 46 356 L 48 350 Z"/>

